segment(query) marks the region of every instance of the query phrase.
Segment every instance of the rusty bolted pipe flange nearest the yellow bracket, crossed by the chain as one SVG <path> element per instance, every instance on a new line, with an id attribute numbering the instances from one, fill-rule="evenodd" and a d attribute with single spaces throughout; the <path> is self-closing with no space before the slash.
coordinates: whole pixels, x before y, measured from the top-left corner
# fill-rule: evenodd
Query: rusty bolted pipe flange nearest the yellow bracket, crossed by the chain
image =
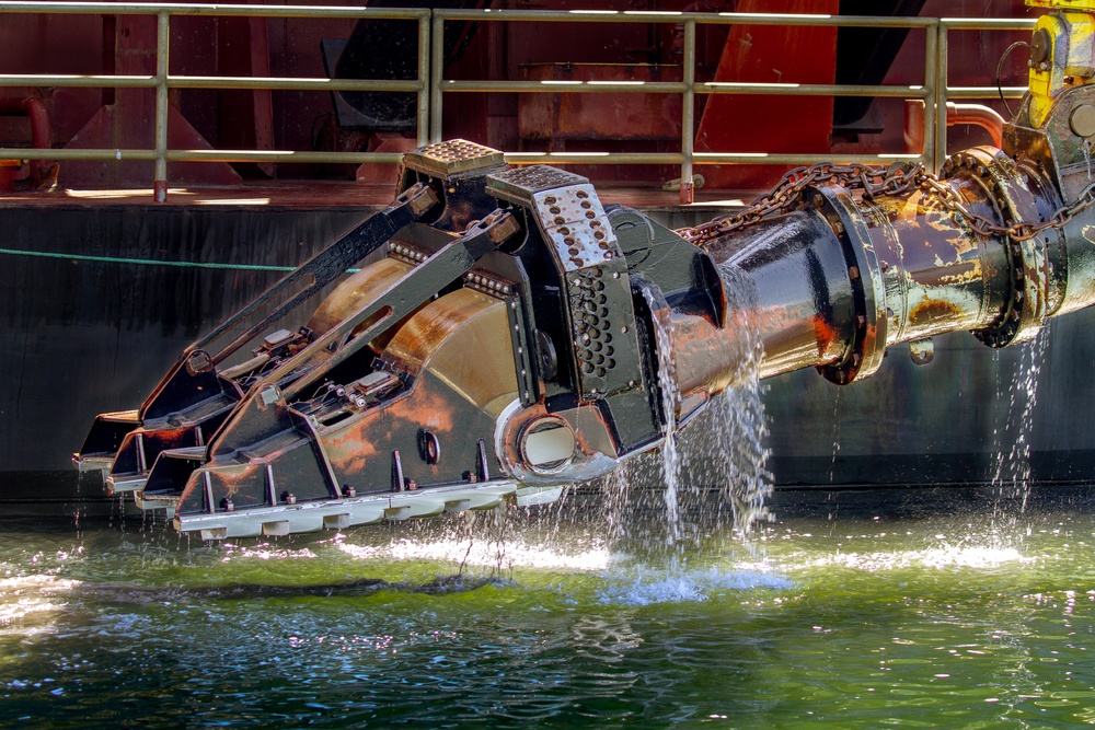
<path id="1" fill-rule="evenodd" d="M 977 181 L 1002 217 L 1001 225 L 1017 221 L 1041 221 L 1039 195 L 1031 185 L 1044 188 L 1037 175 L 1021 172 L 1015 162 L 994 147 L 975 147 L 950 157 L 940 171 L 941 179 L 965 177 Z M 973 331 L 973 336 L 989 347 L 1000 348 L 1029 341 L 1038 334 L 1060 292 L 1050 277 L 1047 239 L 1038 235 L 1026 241 L 1008 236 L 1003 245 L 1011 269 L 1007 301 L 996 321 Z"/>

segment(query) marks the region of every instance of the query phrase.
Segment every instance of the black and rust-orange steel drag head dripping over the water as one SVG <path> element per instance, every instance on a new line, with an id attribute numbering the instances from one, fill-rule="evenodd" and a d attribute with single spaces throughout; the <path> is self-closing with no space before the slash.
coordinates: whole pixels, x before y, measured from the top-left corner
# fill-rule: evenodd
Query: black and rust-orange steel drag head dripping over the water
<path id="1" fill-rule="evenodd" d="M 101 416 L 76 460 L 204 538 L 552 501 L 678 422 L 649 337 L 671 304 L 725 318 L 695 246 L 577 175 L 425 147 L 391 206 L 184 351 L 136 414 Z"/>

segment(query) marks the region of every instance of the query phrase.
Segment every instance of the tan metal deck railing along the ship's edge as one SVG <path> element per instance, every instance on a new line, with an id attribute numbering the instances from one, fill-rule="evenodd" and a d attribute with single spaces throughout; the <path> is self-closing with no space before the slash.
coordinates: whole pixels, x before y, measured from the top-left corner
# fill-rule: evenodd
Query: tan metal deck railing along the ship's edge
<path id="1" fill-rule="evenodd" d="M 87 14 L 87 15 L 154 15 L 157 18 L 155 73 L 122 74 L 56 74 L 3 73 L 0 89 L 20 86 L 153 89 L 155 91 L 154 147 L 151 149 L 68 149 L 54 148 L 48 158 L 65 160 L 130 160 L 154 163 L 153 187 L 168 189 L 169 162 L 227 163 L 330 163 L 392 164 L 397 152 L 334 152 L 314 150 L 195 150 L 174 149 L 168 144 L 169 96 L 175 89 L 214 90 L 299 90 L 414 93 L 417 95 L 415 138 L 418 144 L 440 141 L 445 96 L 449 93 L 613 93 L 613 94 L 679 94 L 681 96 L 680 150 L 668 152 L 526 152 L 506 151 L 511 164 L 660 164 L 680 167 L 680 179 L 691 181 L 700 165 L 765 164 L 787 167 L 820 162 L 888 164 L 899 161 L 920 162 L 937 171 L 946 158 L 946 104 L 949 100 L 986 100 L 998 95 L 1018 99 L 1026 86 L 952 86 L 947 81 L 948 34 L 956 31 L 1029 31 L 1034 19 L 970 18 L 892 18 L 840 16 L 827 14 L 781 13 L 690 13 L 676 11 L 537 11 L 537 10 L 440 10 L 440 9 L 373 9 L 330 5 L 263 5 L 220 3 L 146 3 L 146 2 L 48 2 L 0 0 L 2 16 L 13 13 Z M 356 80 L 327 78 L 183 76 L 169 72 L 171 21 L 177 16 L 244 16 L 244 18 L 309 18 L 309 19 L 376 19 L 405 20 L 418 26 L 417 74 L 411 80 Z M 491 23 L 671 23 L 683 28 L 682 68 L 680 81 L 512 81 L 453 80 L 445 78 L 443 27 L 447 22 L 472 21 Z M 696 28 L 702 25 L 783 25 L 826 27 L 896 27 L 920 28 L 924 38 L 923 82 L 919 84 L 799 84 L 696 81 Z M 698 152 L 695 151 L 695 99 L 698 95 L 791 95 L 791 96 L 869 96 L 922 100 L 923 150 L 920 153 L 891 152 L 880 154 L 787 154 L 779 152 Z M 0 147 L 0 160 L 36 159 L 27 148 Z"/>

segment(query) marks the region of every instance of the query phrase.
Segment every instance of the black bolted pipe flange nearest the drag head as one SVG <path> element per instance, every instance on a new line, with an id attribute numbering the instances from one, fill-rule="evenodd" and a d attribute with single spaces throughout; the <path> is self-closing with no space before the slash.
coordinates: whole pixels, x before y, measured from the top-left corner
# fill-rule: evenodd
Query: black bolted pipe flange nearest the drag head
<path id="1" fill-rule="evenodd" d="M 804 200 L 828 221 L 840 241 L 848 265 L 855 304 L 851 347 L 840 362 L 817 368 L 829 382 L 844 385 L 856 378 L 875 374 L 886 357 L 886 288 L 883 273 L 871 243 L 866 219 L 846 188 L 839 185 L 811 186 L 807 188 Z"/>

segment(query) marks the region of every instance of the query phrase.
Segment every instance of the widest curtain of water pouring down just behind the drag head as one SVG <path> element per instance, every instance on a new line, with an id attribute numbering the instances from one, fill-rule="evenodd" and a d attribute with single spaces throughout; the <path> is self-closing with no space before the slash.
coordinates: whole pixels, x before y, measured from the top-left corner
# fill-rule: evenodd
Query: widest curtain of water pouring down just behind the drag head
<path id="1" fill-rule="evenodd" d="M 597 487 L 610 542 L 623 552 L 681 558 L 680 549 L 733 534 L 746 538 L 757 521 L 771 519 L 765 500 L 766 425 L 761 398 L 763 341 L 753 321 L 756 291 L 726 266 L 728 318 L 735 350 L 725 391 L 714 395 L 687 428 L 678 422 L 680 393 L 672 357 L 672 322 L 652 317 L 658 387 L 666 426 L 659 454 L 633 456 Z M 644 292 L 650 310 L 657 302 Z M 678 566 L 680 568 L 680 566 Z"/>

